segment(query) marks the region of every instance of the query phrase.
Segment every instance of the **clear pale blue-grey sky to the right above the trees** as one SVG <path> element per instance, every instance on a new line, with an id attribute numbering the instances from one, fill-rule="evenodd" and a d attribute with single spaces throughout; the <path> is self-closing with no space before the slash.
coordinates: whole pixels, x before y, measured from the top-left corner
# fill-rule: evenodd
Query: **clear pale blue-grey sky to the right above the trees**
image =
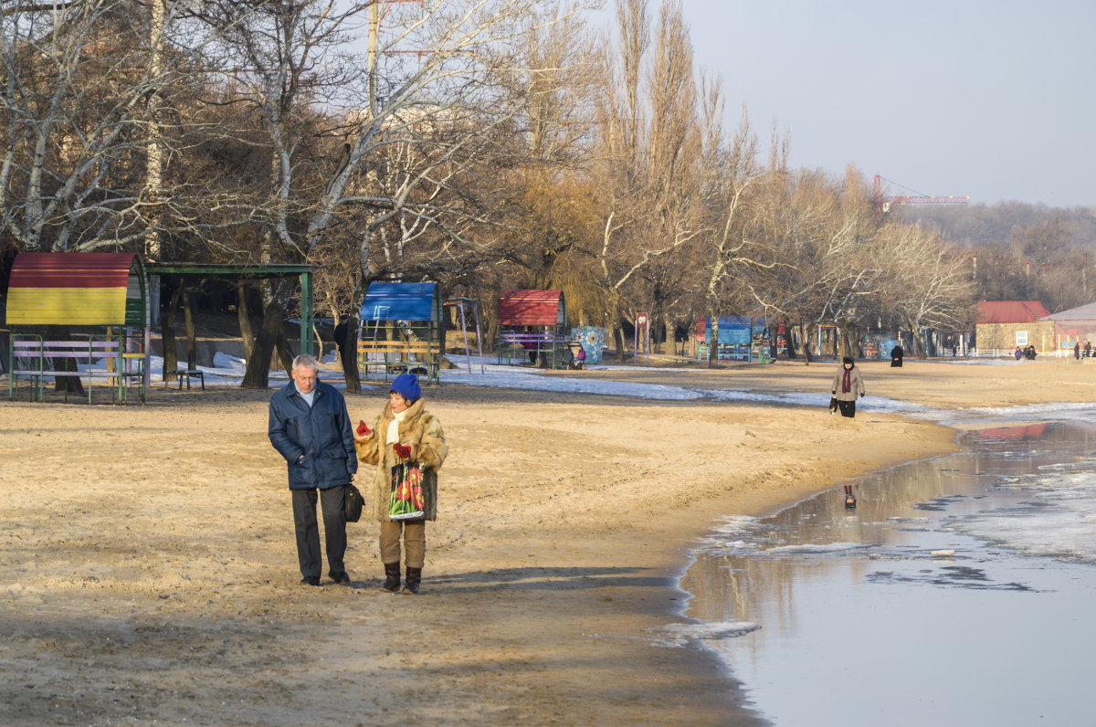
<path id="1" fill-rule="evenodd" d="M 1096 208 L 1094 0 L 682 5 L 728 123 L 743 103 L 762 139 L 775 123 L 795 167 L 853 163 L 890 194 Z"/>

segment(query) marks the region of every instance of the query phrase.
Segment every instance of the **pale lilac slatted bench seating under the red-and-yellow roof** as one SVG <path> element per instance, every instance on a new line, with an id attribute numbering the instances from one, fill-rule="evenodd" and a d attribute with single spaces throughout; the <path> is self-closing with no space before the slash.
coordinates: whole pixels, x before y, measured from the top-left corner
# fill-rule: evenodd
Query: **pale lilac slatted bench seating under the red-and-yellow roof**
<path id="1" fill-rule="evenodd" d="M 117 340 L 91 338 L 87 341 L 45 341 L 38 336 L 15 334 L 11 340 L 11 374 L 8 377 L 8 398 L 19 396 L 19 379 L 31 382 L 31 400 L 43 400 L 45 379 L 79 376 L 88 379 L 88 404 L 91 404 L 92 383 L 106 380 L 111 400 L 125 402 L 133 379 L 144 379 L 144 354 L 122 351 Z M 72 362 L 76 371 L 61 368 L 61 361 Z M 81 364 L 84 366 L 80 370 Z M 102 364 L 102 366 L 100 366 Z M 139 387 L 145 401 L 145 387 Z M 68 389 L 65 389 L 68 401 Z"/>

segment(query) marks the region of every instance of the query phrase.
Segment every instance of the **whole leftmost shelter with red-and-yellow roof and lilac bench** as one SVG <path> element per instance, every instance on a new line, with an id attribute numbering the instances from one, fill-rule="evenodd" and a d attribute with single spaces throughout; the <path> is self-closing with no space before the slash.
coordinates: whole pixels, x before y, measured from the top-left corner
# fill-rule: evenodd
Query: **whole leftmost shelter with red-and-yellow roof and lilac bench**
<path id="1" fill-rule="evenodd" d="M 148 387 L 148 289 L 139 255 L 128 252 L 22 252 L 12 263 L 7 322 L 11 329 L 8 398 L 19 380 L 42 401 L 46 380 L 105 380 L 111 400 L 126 404 L 136 389 L 141 404 Z M 68 340 L 52 340 L 48 327 L 70 329 Z M 71 332 L 100 328 L 101 333 Z M 68 387 L 65 388 L 68 400 Z"/>

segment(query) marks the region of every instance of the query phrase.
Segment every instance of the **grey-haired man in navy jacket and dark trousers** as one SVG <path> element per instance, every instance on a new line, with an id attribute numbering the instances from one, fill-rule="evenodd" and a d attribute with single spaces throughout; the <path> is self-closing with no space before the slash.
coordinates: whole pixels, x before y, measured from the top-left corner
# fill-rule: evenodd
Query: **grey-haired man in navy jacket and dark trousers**
<path id="1" fill-rule="evenodd" d="M 269 435 L 285 457 L 293 493 L 293 520 L 297 527 L 300 582 L 320 584 L 323 558 L 316 521 L 319 490 L 323 535 L 328 550 L 328 575 L 336 583 L 349 583 L 343 564 L 346 554 L 345 485 L 357 472 L 354 432 L 346 401 L 333 386 L 321 383 L 316 359 L 300 355 L 293 361 L 293 380 L 271 398 Z"/>

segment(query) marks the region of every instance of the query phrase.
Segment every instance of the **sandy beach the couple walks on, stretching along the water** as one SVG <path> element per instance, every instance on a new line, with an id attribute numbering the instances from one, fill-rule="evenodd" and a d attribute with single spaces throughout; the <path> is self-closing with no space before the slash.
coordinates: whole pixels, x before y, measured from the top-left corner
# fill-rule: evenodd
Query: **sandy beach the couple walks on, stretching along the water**
<path id="1" fill-rule="evenodd" d="M 1096 360 L 860 366 L 869 395 L 934 407 L 1096 401 Z M 777 393 L 829 391 L 835 370 L 571 375 Z M 955 447 L 891 413 L 432 386 L 438 520 L 422 593 L 391 595 L 367 518 L 349 587 L 298 583 L 271 394 L 4 397 L 0 723 L 733 725 L 733 675 L 698 644 L 654 645 L 688 621 L 689 544 Z M 383 400 L 349 397 L 351 417 Z"/>

